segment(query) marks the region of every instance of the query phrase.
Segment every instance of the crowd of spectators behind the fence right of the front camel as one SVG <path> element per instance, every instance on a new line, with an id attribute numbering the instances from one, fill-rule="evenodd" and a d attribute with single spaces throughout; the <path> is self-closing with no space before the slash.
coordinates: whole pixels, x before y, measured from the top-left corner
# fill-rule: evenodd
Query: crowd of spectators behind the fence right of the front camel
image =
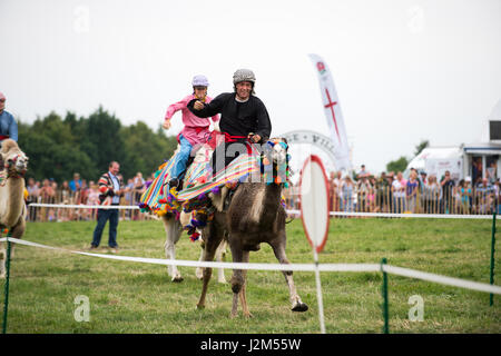
<path id="1" fill-rule="evenodd" d="M 494 170 L 495 172 L 495 170 Z M 450 171 L 440 179 L 425 171 L 411 169 L 405 179 L 402 171 L 375 176 L 362 166 L 356 175 L 331 172 L 328 179 L 330 210 L 350 212 L 414 214 L 501 214 L 501 181 L 495 174 L 488 178 L 454 180 Z M 297 187 L 286 195 L 289 208 L 298 209 Z"/>

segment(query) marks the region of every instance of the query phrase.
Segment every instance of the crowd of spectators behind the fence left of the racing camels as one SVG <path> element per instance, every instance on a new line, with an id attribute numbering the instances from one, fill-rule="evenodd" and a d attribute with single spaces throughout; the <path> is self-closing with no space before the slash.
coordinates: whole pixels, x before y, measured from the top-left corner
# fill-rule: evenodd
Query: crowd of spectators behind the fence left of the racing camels
<path id="1" fill-rule="evenodd" d="M 148 180 L 153 181 L 153 175 Z M 137 172 L 135 177 L 129 178 L 126 185 L 125 196 L 120 200 L 124 206 L 137 206 L 139 199 L 145 192 L 147 180 L 143 178 L 141 172 Z M 28 207 L 32 202 L 55 204 L 55 205 L 99 205 L 99 187 L 97 181 L 82 179 L 78 172 L 73 174 L 71 180 L 57 182 L 52 178 L 41 181 L 29 178 L 26 185 L 28 190 Z M 94 220 L 96 219 L 96 208 L 52 208 L 52 207 L 31 207 L 28 209 L 28 219 L 31 221 L 69 221 L 69 220 Z M 139 210 L 124 209 L 120 210 L 120 218 L 129 220 L 143 219 L 144 215 Z"/>

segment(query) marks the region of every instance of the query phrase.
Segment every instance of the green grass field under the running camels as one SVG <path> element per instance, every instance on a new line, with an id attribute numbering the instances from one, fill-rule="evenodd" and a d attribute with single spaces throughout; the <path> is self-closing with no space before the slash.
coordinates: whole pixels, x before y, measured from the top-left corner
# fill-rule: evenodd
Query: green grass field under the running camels
<path id="1" fill-rule="evenodd" d="M 490 220 L 333 219 L 321 263 L 380 263 L 489 283 Z M 84 250 L 95 222 L 30 222 L 24 239 Z M 107 243 L 105 229 L 104 243 Z M 313 255 L 301 220 L 287 225 L 287 257 L 311 263 Z M 500 239 L 501 237 L 498 237 Z M 121 221 L 119 255 L 165 258 L 165 233 L 158 221 Z M 498 250 L 500 248 L 498 247 Z M 106 248 L 99 250 L 106 253 Z M 186 234 L 177 258 L 197 259 L 199 245 Z M 226 260 L 230 260 L 228 256 Z M 495 270 L 501 268 L 498 253 Z M 272 249 L 250 254 L 252 263 L 276 263 Z M 279 271 L 248 271 L 247 301 L 253 318 L 229 318 L 228 284 L 210 281 L 207 307 L 196 309 L 202 281 L 195 268 L 180 267 L 174 284 L 167 267 L 114 261 L 62 251 L 17 246 L 11 265 L 8 333 L 320 333 L 313 273 L 294 273 L 297 290 L 310 306 L 289 310 L 288 289 Z M 225 271 L 229 280 L 232 271 Z M 3 291 L 4 280 L 0 281 Z M 501 281 L 498 277 L 498 285 Z M 323 273 L 327 333 L 381 333 L 380 273 Z M 501 297 L 389 275 L 391 333 L 500 333 Z M 90 320 L 77 322 L 75 298 L 90 301 Z M 424 300 L 424 320 L 411 322 L 409 298 Z M 0 297 L 3 306 L 3 293 Z"/>

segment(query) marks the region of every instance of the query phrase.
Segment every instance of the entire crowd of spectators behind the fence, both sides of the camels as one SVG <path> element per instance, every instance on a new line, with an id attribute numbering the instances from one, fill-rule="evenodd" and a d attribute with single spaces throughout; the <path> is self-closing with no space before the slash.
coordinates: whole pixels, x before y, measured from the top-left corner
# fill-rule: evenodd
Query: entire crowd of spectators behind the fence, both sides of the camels
<path id="1" fill-rule="evenodd" d="M 137 206 L 153 175 L 145 180 L 141 172 L 127 179 L 122 206 Z M 57 205 L 99 204 L 96 181 L 81 179 L 78 172 L 71 180 L 60 184 L 52 178 L 27 181 L 27 202 Z M 372 175 L 362 166 L 355 175 L 343 176 L 331 172 L 328 179 L 330 210 L 350 212 L 415 212 L 415 214 L 501 214 L 501 181 L 492 172 L 488 178 L 479 177 L 472 182 L 470 177 L 454 180 L 449 171 L 438 179 L 425 171 L 411 169 L 405 179 L 402 171 Z M 286 190 L 287 208 L 298 209 L 297 187 Z M 30 208 L 29 220 L 68 221 L 96 219 L 96 208 Z M 143 219 L 137 209 L 120 210 L 121 219 Z"/>

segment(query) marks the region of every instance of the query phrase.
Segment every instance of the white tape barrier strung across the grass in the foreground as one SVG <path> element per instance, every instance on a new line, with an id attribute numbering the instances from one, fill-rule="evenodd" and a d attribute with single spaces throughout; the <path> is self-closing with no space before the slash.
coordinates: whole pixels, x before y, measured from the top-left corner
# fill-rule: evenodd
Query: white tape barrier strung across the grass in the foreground
<path id="1" fill-rule="evenodd" d="M 7 241 L 7 238 L 0 238 L 1 241 Z M 259 270 L 296 270 L 296 271 L 315 271 L 314 264 L 243 264 L 243 263 L 209 263 L 209 261 L 194 261 L 194 260 L 179 260 L 179 259 L 161 259 L 161 258 L 145 258 L 145 257 L 129 257 L 129 256 L 117 256 L 117 255 L 102 255 L 102 254 L 90 254 L 82 251 L 68 250 L 60 247 L 51 247 L 41 244 L 36 244 L 27 240 L 21 240 L 17 238 L 9 237 L 9 241 L 26 246 L 60 250 L 71 254 L 78 254 L 90 257 L 108 258 L 115 260 L 135 261 L 144 264 L 155 264 L 155 265 L 176 265 L 184 267 L 209 267 L 209 268 L 230 268 L 230 269 L 259 269 Z M 321 264 L 318 265 L 318 270 L 321 271 L 385 271 L 393 275 L 404 276 L 409 278 L 418 278 L 422 280 L 428 280 L 432 283 L 473 289 L 479 291 L 501 294 L 501 287 L 495 285 L 488 285 L 484 283 L 471 281 L 465 279 L 459 279 L 453 277 L 440 276 L 435 274 L 424 273 L 421 270 L 395 267 L 390 265 L 379 265 L 379 264 Z"/>

